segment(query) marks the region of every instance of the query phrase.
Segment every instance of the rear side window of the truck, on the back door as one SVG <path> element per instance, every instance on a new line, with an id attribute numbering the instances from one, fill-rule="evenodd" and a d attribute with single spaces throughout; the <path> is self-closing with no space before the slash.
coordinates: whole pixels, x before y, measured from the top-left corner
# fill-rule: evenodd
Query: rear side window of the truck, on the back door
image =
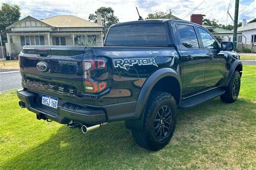
<path id="1" fill-rule="evenodd" d="M 176 28 L 179 33 L 181 44 L 186 48 L 199 48 L 197 34 L 194 31 L 193 26 L 177 24 Z"/>

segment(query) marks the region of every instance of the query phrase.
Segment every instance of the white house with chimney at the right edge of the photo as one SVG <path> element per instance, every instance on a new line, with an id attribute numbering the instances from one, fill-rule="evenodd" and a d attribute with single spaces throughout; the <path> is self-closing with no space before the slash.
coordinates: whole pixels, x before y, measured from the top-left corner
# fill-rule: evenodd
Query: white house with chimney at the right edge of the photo
<path id="1" fill-rule="evenodd" d="M 242 20 L 242 26 L 237 28 L 238 37 L 238 50 L 241 51 L 242 47 L 252 49 L 252 52 L 256 52 L 256 23 L 248 23 L 246 19 Z M 227 39 L 225 39 L 227 40 Z M 230 37 L 230 41 L 233 40 L 233 36 Z"/>

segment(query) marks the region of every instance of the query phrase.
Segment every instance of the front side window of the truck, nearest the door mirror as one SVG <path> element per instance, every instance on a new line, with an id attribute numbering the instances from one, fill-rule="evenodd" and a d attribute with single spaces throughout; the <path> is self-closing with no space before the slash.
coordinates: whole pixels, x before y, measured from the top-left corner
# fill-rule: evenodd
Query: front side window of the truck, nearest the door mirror
<path id="1" fill-rule="evenodd" d="M 218 49 L 218 42 L 205 30 L 198 28 L 205 49 Z"/>

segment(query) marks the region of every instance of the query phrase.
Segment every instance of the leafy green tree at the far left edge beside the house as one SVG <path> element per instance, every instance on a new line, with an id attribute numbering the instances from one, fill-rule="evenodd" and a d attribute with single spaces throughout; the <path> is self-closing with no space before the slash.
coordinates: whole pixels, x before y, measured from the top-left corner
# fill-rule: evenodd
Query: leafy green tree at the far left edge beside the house
<path id="1" fill-rule="evenodd" d="M 4 31 L 5 27 L 17 22 L 21 17 L 21 12 L 18 5 L 11 6 L 3 3 L 0 9 L 0 30 Z"/>

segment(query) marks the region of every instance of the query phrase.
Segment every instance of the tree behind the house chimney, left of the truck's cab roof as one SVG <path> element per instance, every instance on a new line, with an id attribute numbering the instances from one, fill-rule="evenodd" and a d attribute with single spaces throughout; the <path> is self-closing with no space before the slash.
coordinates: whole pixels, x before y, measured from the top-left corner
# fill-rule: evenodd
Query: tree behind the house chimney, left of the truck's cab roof
<path id="1" fill-rule="evenodd" d="M 101 14 L 102 25 L 105 26 L 107 30 L 111 25 L 117 24 L 119 22 L 119 19 L 114 16 L 114 10 L 111 7 L 100 7 L 99 9 L 97 9 L 97 11 L 95 11 L 95 14 L 90 13 L 89 20 L 97 23 L 97 13 Z"/>

